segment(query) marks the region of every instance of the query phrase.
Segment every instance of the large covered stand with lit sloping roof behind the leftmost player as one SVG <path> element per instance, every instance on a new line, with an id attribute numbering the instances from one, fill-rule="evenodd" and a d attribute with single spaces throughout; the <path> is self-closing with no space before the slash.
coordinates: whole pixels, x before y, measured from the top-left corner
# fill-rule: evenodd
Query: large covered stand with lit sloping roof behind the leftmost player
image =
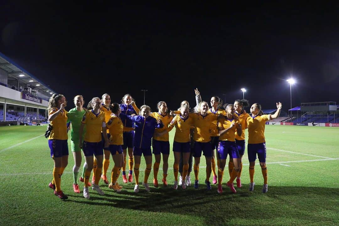
<path id="1" fill-rule="evenodd" d="M 0 125 L 46 121 L 48 99 L 54 93 L 12 59 L 0 53 Z"/>

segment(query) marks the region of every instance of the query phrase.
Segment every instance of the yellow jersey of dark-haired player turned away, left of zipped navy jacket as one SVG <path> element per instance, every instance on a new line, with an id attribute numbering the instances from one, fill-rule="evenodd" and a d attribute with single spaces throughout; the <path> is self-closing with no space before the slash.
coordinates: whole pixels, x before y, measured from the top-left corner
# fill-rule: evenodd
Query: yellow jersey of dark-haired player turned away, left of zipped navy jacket
<path id="1" fill-rule="evenodd" d="M 115 144 L 115 145 L 123 145 L 123 136 L 122 131 L 124 125 L 122 124 L 121 119 L 113 115 L 108 122 L 106 122 L 106 127 L 109 129 L 109 134 L 111 137 L 109 137 L 109 144 Z"/>

